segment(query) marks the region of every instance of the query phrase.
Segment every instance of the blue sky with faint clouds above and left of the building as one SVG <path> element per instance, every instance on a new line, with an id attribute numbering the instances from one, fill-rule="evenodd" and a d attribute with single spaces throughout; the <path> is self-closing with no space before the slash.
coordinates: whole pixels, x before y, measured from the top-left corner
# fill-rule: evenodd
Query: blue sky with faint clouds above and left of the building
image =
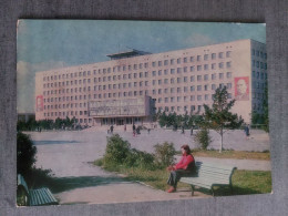
<path id="1" fill-rule="evenodd" d="M 160 53 L 254 39 L 266 43 L 264 23 L 19 20 L 17 109 L 34 112 L 34 74 L 56 68 L 109 61 L 111 53 Z"/>

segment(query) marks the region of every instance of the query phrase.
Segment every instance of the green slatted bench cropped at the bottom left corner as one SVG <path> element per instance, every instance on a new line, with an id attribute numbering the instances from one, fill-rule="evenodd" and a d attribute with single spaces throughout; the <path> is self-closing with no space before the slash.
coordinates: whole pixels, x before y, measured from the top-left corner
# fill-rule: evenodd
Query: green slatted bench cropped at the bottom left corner
<path id="1" fill-rule="evenodd" d="M 18 174 L 17 181 L 18 205 L 43 206 L 58 205 L 58 200 L 49 188 L 28 189 L 27 183 L 22 175 Z"/>

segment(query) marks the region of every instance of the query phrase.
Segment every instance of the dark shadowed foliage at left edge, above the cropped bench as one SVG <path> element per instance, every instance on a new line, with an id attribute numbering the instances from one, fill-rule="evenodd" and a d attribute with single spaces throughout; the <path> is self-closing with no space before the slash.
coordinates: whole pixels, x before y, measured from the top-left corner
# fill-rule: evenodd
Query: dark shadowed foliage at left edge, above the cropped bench
<path id="1" fill-rule="evenodd" d="M 29 135 L 17 133 L 17 173 L 28 177 L 32 173 L 35 163 L 37 147 Z"/>

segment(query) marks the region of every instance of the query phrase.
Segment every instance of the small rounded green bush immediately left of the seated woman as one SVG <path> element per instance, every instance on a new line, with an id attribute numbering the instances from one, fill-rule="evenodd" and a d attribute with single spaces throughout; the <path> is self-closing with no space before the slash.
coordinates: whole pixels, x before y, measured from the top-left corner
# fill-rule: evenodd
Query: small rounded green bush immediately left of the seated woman
<path id="1" fill-rule="evenodd" d="M 176 154 L 173 143 L 163 143 L 154 145 L 155 148 L 155 163 L 161 167 L 166 167 L 171 164 L 174 164 L 174 156 Z"/>

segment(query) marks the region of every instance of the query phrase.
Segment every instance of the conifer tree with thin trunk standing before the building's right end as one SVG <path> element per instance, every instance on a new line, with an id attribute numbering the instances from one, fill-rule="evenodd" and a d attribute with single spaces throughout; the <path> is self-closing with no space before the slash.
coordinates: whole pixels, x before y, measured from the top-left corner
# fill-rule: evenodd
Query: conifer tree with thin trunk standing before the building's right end
<path id="1" fill-rule="evenodd" d="M 235 104 L 235 100 L 228 101 L 228 92 L 226 86 L 218 88 L 213 95 L 213 105 L 209 107 L 204 104 L 204 121 L 207 125 L 215 130 L 222 137 L 219 152 L 223 150 L 223 135 L 226 131 L 237 128 L 243 124 L 243 119 L 229 110 Z"/>

